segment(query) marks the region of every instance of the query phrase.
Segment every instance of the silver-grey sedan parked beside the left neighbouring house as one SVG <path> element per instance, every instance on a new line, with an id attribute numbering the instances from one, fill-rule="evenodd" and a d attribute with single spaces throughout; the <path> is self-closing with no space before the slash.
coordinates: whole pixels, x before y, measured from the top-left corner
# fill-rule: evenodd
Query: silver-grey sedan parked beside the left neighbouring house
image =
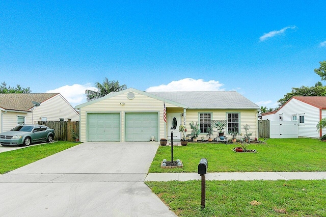
<path id="1" fill-rule="evenodd" d="M 52 142 L 55 130 L 44 125 L 18 125 L 10 131 L 0 133 L 0 144 L 29 146 L 36 142 Z"/>

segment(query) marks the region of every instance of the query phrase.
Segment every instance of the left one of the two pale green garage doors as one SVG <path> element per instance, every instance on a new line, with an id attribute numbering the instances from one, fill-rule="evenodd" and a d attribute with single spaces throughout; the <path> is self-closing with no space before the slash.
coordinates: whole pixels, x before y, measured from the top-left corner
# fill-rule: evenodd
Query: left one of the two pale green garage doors
<path id="1" fill-rule="evenodd" d="M 88 141 L 120 141 L 120 113 L 88 114 Z"/>

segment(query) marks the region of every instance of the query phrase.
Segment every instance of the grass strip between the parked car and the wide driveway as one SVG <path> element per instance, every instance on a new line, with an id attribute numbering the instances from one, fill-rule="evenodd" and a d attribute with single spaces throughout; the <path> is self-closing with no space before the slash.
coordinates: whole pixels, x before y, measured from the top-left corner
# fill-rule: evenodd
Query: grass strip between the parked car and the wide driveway
<path id="1" fill-rule="evenodd" d="M 78 144 L 80 143 L 59 141 L 2 152 L 0 153 L 0 174 L 31 164 Z"/>

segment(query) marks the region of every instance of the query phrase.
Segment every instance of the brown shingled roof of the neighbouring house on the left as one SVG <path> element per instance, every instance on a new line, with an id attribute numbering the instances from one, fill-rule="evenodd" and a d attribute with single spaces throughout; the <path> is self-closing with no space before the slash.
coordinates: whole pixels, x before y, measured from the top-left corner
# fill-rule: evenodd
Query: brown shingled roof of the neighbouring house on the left
<path id="1" fill-rule="evenodd" d="M 4 93 L 0 94 L 0 107 L 5 110 L 29 112 L 32 101 L 42 103 L 59 93 Z"/>

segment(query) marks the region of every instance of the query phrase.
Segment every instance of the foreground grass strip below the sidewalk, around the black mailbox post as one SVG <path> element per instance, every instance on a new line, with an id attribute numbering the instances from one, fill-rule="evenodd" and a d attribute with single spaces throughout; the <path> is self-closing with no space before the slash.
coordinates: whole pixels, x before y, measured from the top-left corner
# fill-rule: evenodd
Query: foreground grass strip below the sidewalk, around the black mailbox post
<path id="1" fill-rule="evenodd" d="M 178 216 L 326 216 L 326 180 L 146 182 Z"/>

